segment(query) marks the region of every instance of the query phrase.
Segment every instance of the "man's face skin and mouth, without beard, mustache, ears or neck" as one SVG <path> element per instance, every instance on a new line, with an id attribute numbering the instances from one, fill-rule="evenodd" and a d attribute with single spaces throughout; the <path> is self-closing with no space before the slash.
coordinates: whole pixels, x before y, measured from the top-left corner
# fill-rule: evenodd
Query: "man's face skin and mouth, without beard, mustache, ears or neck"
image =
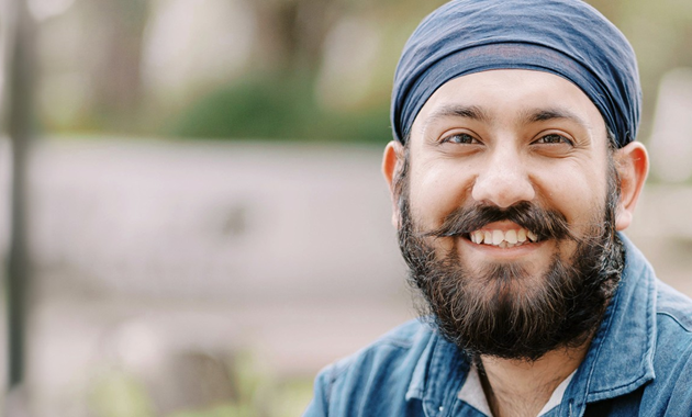
<path id="1" fill-rule="evenodd" d="M 411 214 L 423 229 L 442 226 L 459 206 L 501 208 L 527 201 L 561 213 L 574 232 L 602 213 L 607 189 L 607 135 L 603 117 L 571 82 L 547 72 L 494 70 L 445 83 L 415 119 L 410 137 Z M 510 222 L 478 232 L 522 234 Z M 527 230 L 531 232 L 531 230 Z M 438 239 L 464 263 L 518 262 L 539 275 L 556 241 L 513 248 L 467 238 Z"/>

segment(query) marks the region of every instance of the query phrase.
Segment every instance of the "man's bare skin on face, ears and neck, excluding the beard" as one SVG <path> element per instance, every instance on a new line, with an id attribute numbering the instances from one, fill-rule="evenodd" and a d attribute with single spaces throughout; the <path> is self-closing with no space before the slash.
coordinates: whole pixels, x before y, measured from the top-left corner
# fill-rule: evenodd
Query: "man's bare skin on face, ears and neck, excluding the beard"
<path id="1" fill-rule="evenodd" d="M 456 78 L 442 86 L 416 116 L 410 136 L 410 204 L 423 229 L 437 228 L 447 214 L 472 202 L 509 207 L 522 201 L 559 211 L 577 234 L 602 218 L 607 182 L 606 127 L 599 110 L 570 81 L 542 71 L 503 69 Z M 403 147 L 391 142 L 382 162 L 392 191 L 393 224 L 399 227 L 392 180 Z M 640 143 L 613 155 L 621 179 L 616 228 L 632 222 L 648 172 Z M 482 230 L 518 229 L 496 222 Z M 482 270 L 516 262 L 532 278 L 513 293 L 540 285 L 555 255 L 568 261 L 573 243 L 542 240 L 514 248 L 477 245 L 465 237 L 434 240 L 438 253 L 456 251 L 467 267 Z M 529 291 L 528 291 L 529 292 Z M 483 387 L 495 416 L 537 415 L 550 394 L 588 350 L 548 352 L 535 362 L 481 357 Z"/>

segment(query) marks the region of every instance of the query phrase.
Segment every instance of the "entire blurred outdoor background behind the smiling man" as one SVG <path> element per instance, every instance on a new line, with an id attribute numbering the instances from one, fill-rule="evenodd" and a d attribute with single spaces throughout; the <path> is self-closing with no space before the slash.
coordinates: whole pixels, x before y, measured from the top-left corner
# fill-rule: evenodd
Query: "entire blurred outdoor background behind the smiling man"
<path id="1" fill-rule="evenodd" d="M 379 165 L 442 3 L 3 0 L 5 415 L 295 416 L 414 317 Z M 590 3 L 644 86 L 628 235 L 692 294 L 692 2 Z"/>

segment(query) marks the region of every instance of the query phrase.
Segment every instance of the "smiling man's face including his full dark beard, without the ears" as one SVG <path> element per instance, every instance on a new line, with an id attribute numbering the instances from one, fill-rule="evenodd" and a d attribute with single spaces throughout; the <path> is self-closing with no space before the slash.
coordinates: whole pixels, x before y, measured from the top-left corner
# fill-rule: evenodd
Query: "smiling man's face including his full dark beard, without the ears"
<path id="1" fill-rule="evenodd" d="M 588 97 L 540 71 L 460 77 L 429 98 L 408 146 L 402 249 L 446 336 L 536 359 L 592 330 L 622 262 L 607 263 L 617 187 Z"/>

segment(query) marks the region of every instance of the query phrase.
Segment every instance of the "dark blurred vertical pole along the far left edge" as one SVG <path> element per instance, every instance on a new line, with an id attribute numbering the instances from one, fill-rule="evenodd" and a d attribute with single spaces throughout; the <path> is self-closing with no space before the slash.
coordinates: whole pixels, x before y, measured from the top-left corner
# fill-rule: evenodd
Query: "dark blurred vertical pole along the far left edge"
<path id="1" fill-rule="evenodd" d="M 35 45 L 34 24 L 26 0 L 8 4 L 8 66 L 5 77 L 5 126 L 12 145 L 12 180 L 10 195 L 10 250 L 7 260 L 7 303 L 9 336 L 9 385 L 16 396 L 25 376 L 26 301 L 30 264 L 26 241 L 26 162 L 34 124 Z M 19 395 L 21 397 L 21 395 Z M 9 404 L 18 401 L 8 397 Z M 21 402 L 21 399 L 19 399 Z"/>

